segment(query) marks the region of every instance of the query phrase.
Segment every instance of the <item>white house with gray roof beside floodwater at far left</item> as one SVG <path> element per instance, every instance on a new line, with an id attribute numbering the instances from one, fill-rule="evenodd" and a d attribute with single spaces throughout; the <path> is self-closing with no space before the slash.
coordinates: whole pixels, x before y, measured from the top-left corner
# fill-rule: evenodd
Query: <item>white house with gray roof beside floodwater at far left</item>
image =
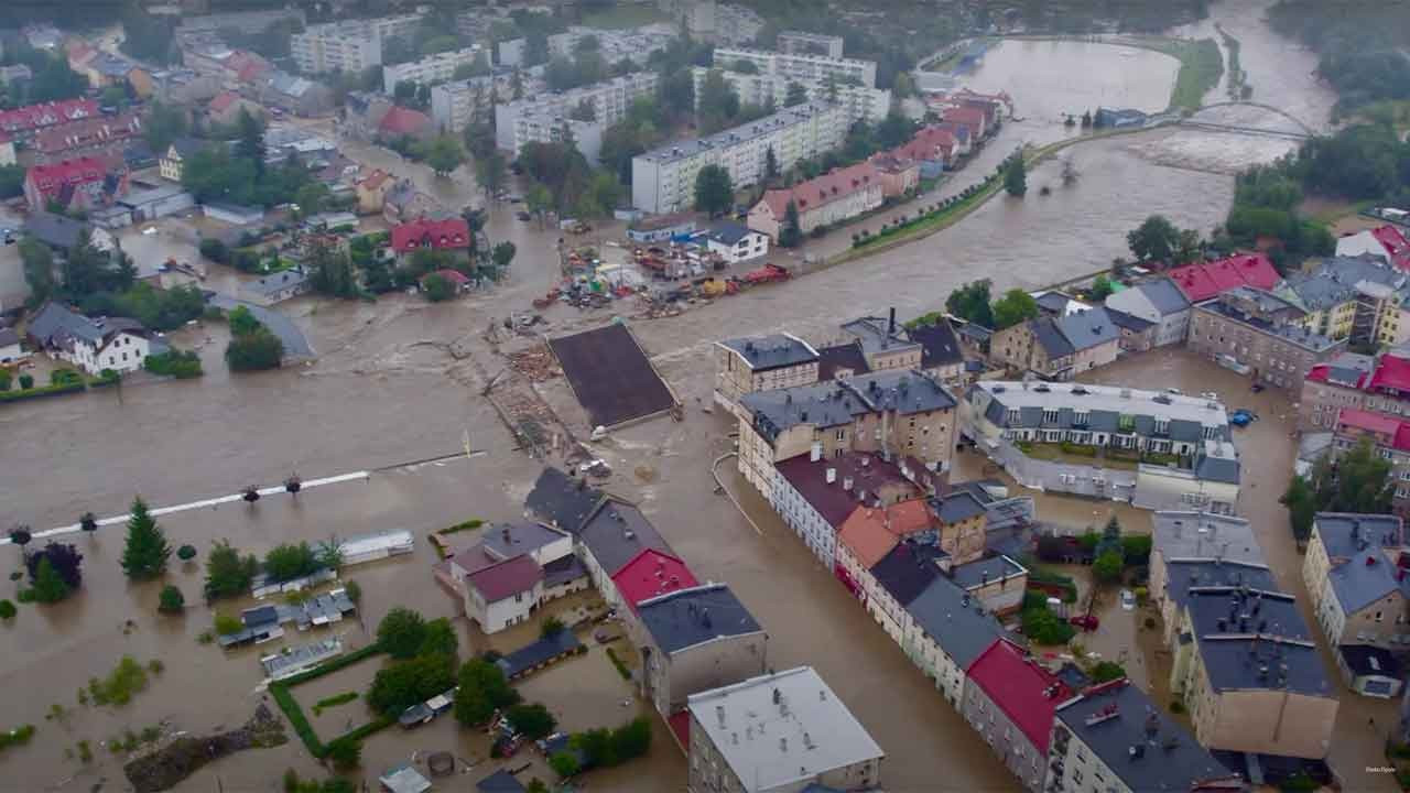
<path id="1" fill-rule="evenodd" d="M 137 371 L 154 346 L 151 332 L 135 319 L 90 319 L 52 302 L 30 320 L 28 334 L 37 349 L 89 374 Z"/>

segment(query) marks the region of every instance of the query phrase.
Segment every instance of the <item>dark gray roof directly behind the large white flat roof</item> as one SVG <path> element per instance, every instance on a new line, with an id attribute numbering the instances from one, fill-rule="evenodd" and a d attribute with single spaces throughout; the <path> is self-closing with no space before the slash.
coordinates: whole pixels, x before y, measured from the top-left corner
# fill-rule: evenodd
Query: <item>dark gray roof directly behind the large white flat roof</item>
<path id="1" fill-rule="evenodd" d="M 763 628 L 726 584 L 702 584 L 642 601 L 636 614 L 663 652 L 674 653 L 718 638 Z"/>

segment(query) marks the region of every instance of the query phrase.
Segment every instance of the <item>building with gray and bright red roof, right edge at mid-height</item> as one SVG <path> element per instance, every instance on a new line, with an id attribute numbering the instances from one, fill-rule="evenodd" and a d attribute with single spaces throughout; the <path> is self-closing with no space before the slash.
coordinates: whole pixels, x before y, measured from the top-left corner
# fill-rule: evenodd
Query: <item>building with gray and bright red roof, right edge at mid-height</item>
<path id="1" fill-rule="evenodd" d="M 1341 353 L 1311 367 L 1301 382 L 1297 428 L 1331 430 L 1344 409 L 1410 418 L 1410 350 Z"/>

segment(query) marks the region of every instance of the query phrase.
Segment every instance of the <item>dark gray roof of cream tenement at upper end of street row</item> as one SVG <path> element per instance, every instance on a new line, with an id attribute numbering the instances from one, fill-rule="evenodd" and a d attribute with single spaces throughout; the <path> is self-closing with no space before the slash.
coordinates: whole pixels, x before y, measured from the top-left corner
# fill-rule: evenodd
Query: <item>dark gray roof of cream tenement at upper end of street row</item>
<path id="1" fill-rule="evenodd" d="M 949 409 L 955 398 L 931 377 L 907 370 L 888 370 L 846 381 L 756 391 L 740 398 L 753 413 L 754 426 L 773 440 L 780 432 L 801 423 L 819 428 L 850 425 L 854 416 L 878 411 L 901 415 Z"/>

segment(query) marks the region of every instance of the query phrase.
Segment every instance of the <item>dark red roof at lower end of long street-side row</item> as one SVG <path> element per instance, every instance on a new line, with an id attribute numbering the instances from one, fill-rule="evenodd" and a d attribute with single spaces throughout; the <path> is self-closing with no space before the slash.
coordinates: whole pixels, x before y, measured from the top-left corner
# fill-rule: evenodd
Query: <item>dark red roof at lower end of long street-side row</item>
<path id="1" fill-rule="evenodd" d="M 1053 713 L 1072 697 L 1067 686 L 1007 639 L 995 639 L 981 652 L 970 663 L 967 677 L 1018 725 L 1039 752 L 1048 753 Z"/>

